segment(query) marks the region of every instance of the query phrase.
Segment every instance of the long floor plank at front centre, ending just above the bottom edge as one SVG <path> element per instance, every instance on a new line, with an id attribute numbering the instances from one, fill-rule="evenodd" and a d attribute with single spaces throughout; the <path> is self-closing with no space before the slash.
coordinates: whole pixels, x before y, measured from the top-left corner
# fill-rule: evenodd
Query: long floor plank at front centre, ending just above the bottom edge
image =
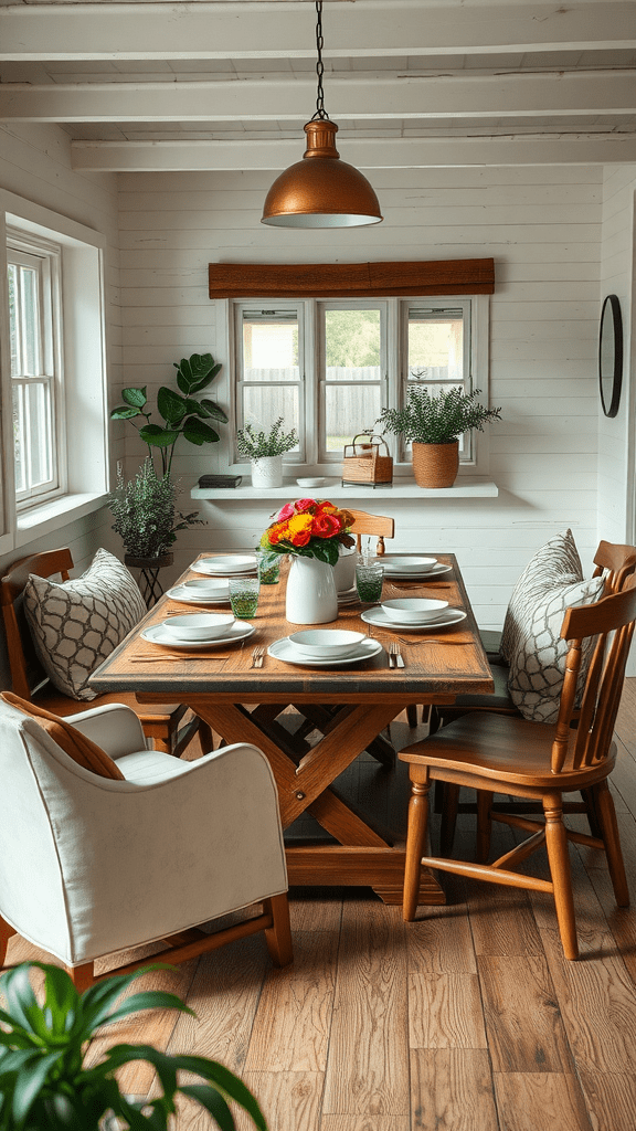
<path id="1" fill-rule="evenodd" d="M 401 908 L 345 903 L 326 1114 L 407 1114 L 406 965 Z"/>

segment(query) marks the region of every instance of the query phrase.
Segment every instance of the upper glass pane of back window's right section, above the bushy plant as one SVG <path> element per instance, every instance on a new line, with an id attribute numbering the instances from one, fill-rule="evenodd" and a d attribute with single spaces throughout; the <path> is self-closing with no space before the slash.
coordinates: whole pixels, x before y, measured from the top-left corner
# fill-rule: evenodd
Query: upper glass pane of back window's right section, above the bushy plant
<path id="1" fill-rule="evenodd" d="M 426 381 L 464 381 L 464 323 L 461 310 L 409 311 L 409 378 Z"/>

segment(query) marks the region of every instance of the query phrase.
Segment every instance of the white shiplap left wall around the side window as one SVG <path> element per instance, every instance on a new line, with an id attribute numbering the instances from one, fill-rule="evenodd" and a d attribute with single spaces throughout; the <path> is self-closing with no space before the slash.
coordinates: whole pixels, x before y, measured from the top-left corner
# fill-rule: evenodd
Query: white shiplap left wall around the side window
<path id="1" fill-rule="evenodd" d="M 102 232 L 109 241 L 105 264 L 106 321 L 109 369 L 113 383 L 119 381 L 121 364 L 121 319 L 119 313 L 119 248 L 117 227 L 117 179 L 113 175 L 79 175 L 71 170 L 70 139 L 58 127 L 0 126 L 0 185 L 16 196 L 68 216 L 87 227 Z M 74 418 L 69 430 L 81 428 L 81 420 Z M 115 441 L 123 455 L 123 439 Z M 117 455 L 117 447 L 114 455 Z M 113 455 L 113 458 L 114 458 Z M 14 553 L 0 554 L 0 569 L 16 558 L 36 550 L 69 546 L 75 572 L 81 572 L 100 545 L 114 550 L 114 535 L 105 512 L 91 515 L 71 524 L 60 524 L 60 529 Z M 5 640 L 0 631 L 0 687 L 8 687 Z"/>

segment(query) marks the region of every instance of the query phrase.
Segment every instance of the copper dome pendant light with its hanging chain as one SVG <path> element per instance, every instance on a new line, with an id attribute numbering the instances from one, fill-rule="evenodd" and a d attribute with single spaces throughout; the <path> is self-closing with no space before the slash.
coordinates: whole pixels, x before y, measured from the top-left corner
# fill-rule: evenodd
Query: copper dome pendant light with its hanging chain
<path id="1" fill-rule="evenodd" d="M 261 224 L 273 227 L 361 227 L 383 219 L 369 181 L 341 161 L 335 146 L 337 126 L 325 110 L 323 92 L 323 0 L 316 0 L 318 96 L 316 113 L 304 126 L 307 149 L 267 193 Z"/>

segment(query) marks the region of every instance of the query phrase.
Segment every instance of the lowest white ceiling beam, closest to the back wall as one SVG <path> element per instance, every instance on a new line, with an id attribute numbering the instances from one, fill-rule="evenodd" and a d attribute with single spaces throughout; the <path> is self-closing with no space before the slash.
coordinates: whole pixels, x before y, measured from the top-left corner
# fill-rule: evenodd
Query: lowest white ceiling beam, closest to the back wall
<path id="1" fill-rule="evenodd" d="M 299 141 L 74 141 L 72 167 L 84 172 L 283 170 L 301 156 Z M 636 161 L 636 137 L 620 135 L 509 138 L 349 139 L 344 161 L 359 169 L 447 169 L 489 165 L 605 165 Z"/>

